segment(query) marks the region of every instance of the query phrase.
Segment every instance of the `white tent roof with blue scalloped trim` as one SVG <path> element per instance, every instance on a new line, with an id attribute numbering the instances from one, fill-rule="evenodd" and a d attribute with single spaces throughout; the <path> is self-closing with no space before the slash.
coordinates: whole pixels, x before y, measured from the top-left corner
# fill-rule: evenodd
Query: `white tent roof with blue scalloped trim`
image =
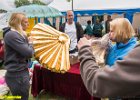
<path id="1" fill-rule="evenodd" d="M 67 10 L 72 9 L 72 0 L 54 0 L 50 6 L 62 11 L 65 15 Z M 73 10 L 75 21 L 77 15 L 103 15 L 103 14 L 124 14 L 125 17 L 133 21 L 133 14 L 140 12 L 140 0 L 73 0 Z"/>

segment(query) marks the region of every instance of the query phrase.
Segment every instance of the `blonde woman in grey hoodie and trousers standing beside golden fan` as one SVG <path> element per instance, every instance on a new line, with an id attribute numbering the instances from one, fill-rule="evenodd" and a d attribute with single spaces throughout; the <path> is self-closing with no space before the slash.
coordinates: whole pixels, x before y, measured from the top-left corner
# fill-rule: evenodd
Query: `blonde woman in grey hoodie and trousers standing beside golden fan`
<path id="1" fill-rule="evenodd" d="M 32 38 L 28 40 L 25 33 L 28 25 L 25 14 L 13 13 L 9 20 L 11 29 L 4 36 L 5 80 L 12 95 L 21 96 L 21 100 L 28 100 L 29 97 L 28 62 L 34 54 Z"/>

